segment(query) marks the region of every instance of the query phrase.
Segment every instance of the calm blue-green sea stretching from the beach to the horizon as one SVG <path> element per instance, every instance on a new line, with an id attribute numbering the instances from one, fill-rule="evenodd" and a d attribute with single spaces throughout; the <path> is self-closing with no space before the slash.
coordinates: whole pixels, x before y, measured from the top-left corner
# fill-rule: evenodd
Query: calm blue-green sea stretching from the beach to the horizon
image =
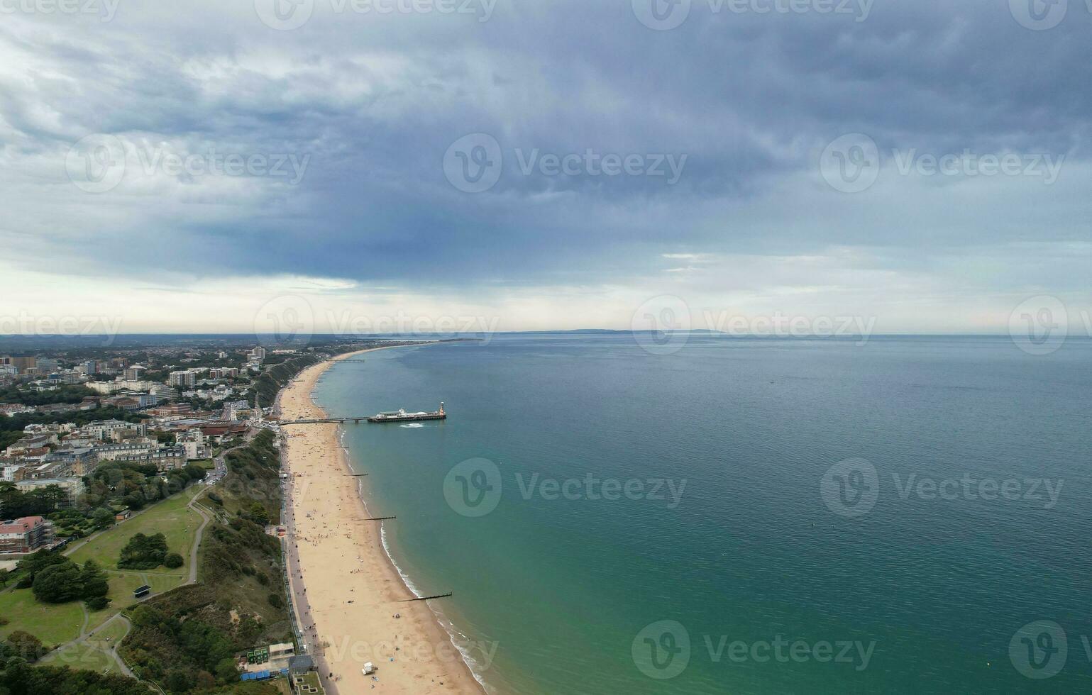
<path id="1" fill-rule="evenodd" d="M 446 422 L 348 426 L 345 441 L 371 512 L 397 516 L 399 566 L 453 591 L 434 602 L 444 618 L 496 645 L 488 668 L 470 651 L 497 692 L 1092 691 L 1088 340 L 1034 357 L 1000 337 L 691 337 L 650 355 L 625 335 L 541 334 L 365 358 L 317 399 L 334 415 L 446 402 Z M 496 476 L 449 477 L 473 458 Z M 843 516 L 859 478 L 833 500 L 821 481 L 853 458 L 877 496 Z M 590 474 L 631 494 L 587 499 Z M 914 487 L 964 475 L 1018 499 Z M 581 484 L 567 499 L 544 478 Z M 656 479 L 681 494 L 652 494 Z M 1063 486 L 1054 504 L 1043 479 Z M 1032 680 L 1010 642 L 1040 620 L 1068 658 Z M 798 658 L 772 656 L 779 636 Z"/>

